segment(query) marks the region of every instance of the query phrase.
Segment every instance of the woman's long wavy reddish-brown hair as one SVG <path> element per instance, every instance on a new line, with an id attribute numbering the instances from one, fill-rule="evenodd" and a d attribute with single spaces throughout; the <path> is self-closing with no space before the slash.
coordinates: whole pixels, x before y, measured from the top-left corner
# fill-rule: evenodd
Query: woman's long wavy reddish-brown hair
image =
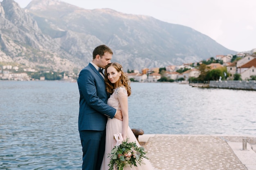
<path id="1" fill-rule="evenodd" d="M 105 82 L 106 82 L 106 89 L 108 91 L 108 93 L 113 93 L 113 90 L 114 90 L 114 84 L 112 84 L 109 79 L 108 79 L 108 75 L 107 75 L 107 69 L 108 67 L 114 67 L 117 72 L 121 72 L 121 76 L 119 78 L 119 84 L 118 86 L 124 86 L 127 90 L 127 94 L 128 96 L 130 96 L 131 94 L 131 87 L 130 87 L 130 79 L 129 77 L 124 73 L 124 69 L 123 67 L 121 66 L 121 64 L 117 63 L 117 62 L 112 62 L 112 63 L 109 63 L 106 67 L 105 67 Z"/>

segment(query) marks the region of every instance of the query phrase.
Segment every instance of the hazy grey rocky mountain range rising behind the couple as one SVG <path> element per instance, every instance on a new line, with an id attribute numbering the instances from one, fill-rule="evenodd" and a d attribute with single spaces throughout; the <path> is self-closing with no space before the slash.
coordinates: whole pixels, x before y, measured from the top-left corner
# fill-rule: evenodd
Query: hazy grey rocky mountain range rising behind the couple
<path id="1" fill-rule="evenodd" d="M 58 0 L 32 0 L 21 9 L 0 3 L 0 62 L 54 71 L 80 70 L 106 44 L 126 69 L 198 62 L 235 54 L 187 26 L 112 9 L 87 10 Z"/>

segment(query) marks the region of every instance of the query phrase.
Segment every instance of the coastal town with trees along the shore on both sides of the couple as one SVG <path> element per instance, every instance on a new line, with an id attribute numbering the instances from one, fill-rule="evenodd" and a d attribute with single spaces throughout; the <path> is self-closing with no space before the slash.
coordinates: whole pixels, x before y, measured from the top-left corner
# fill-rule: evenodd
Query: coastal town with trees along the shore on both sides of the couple
<path id="1" fill-rule="evenodd" d="M 256 49 L 240 52 L 236 55 L 216 55 L 207 60 L 182 65 L 168 65 L 164 68 L 141 68 L 141 70 L 127 71 L 126 74 L 135 82 L 189 82 L 202 75 L 200 66 L 204 64 L 207 71 L 222 70 L 224 75 L 216 76 L 216 79 L 225 80 L 250 80 L 256 77 Z M 66 80 L 76 82 L 79 73 L 56 73 L 45 71 L 38 73 L 34 68 L 21 68 L 17 65 L 5 65 L 0 63 L 0 80 Z M 236 78 L 238 76 L 238 79 Z M 201 76 L 202 77 L 202 76 Z M 197 79 L 198 80 L 198 79 Z"/>

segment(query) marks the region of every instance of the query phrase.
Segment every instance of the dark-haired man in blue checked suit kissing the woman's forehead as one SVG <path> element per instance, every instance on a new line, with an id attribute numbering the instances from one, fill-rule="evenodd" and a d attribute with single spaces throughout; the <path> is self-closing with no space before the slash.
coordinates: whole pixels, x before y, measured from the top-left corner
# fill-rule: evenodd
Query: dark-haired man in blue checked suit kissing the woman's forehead
<path id="1" fill-rule="evenodd" d="M 113 52 L 106 45 L 97 46 L 92 62 L 83 68 L 77 79 L 80 100 L 78 128 L 83 148 L 83 170 L 100 170 L 105 152 L 107 117 L 122 120 L 121 110 L 108 106 L 108 93 L 104 75 Z"/>

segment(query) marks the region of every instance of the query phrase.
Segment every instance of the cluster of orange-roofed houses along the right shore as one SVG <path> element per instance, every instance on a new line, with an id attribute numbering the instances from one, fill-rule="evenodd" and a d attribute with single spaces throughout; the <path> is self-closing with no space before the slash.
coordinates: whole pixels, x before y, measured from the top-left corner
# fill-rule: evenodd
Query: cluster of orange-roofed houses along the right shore
<path id="1" fill-rule="evenodd" d="M 255 49 L 256 51 L 256 49 Z M 220 63 L 211 63 L 207 65 L 209 70 L 225 68 L 226 80 L 234 80 L 234 76 L 240 75 L 240 80 L 249 80 L 251 76 L 256 76 L 256 55 L 254 54 L 238 54 L 239 60 L 231 62 L 232 55 L 216 55 L 214 60 L 221 61 Z M 207 61 L 211 60 L 210 58 Z M 198 78 L 201 71 L 198 66 L 203 62 L 182 64 L 180 66 L 166 66 L 166 71 L 163 74 L 159 73 L 159 68 L 144 68 L 140 72 L 127 73 L 130 79 L 134 79 L 137 82 L 157 82 L 161 77 L 167 77 L 172 80 L 182 80 L 188 82 L 190 78 Z M 182 73 L 178 70 L 185 70 Z M 222 77 L 221 77 L 222 78 Z M 225 77 L 223 77 L 225 79 Z M 219 77 L 218 77 L 219 79 Z"/>

